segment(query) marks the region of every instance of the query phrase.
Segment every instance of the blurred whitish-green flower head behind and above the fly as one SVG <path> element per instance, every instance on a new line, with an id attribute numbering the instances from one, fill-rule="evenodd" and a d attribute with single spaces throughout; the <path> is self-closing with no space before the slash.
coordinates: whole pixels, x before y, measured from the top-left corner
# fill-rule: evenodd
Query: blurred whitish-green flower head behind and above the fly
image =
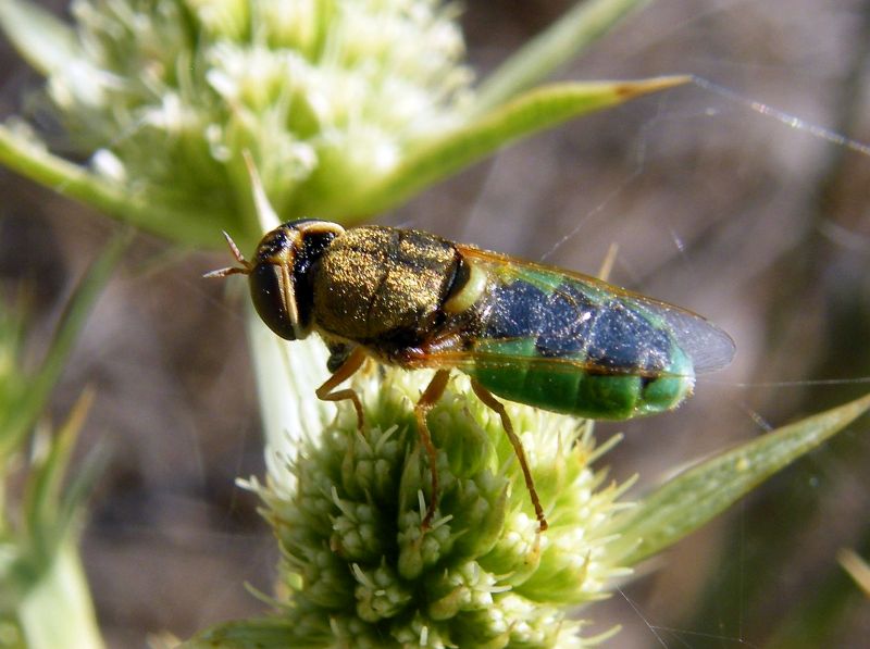
<path id="1" fill-rule="evenodd" d="M 52 67 L 48 92 L 77 148 L 149 200 L 235 212 L 251 237 L 243 151 L 283 219 L 352 212 L 470 92 L 455 10 L 434 0 L 78 0 L 73 13 L 80 55 Z"/>

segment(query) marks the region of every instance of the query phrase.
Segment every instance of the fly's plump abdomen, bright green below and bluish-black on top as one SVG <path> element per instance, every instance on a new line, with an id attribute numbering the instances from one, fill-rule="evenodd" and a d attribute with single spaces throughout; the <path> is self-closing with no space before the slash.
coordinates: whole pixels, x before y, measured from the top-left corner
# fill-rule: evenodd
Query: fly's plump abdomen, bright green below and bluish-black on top
<path id="1" fill-rule="evenodd" d="M 486 297 L 473 367 L 492 392 L 555 412 L 630 419 L 670 410 L 692 391 L 692 361 L 643 305 L 535 274 Z"/>

